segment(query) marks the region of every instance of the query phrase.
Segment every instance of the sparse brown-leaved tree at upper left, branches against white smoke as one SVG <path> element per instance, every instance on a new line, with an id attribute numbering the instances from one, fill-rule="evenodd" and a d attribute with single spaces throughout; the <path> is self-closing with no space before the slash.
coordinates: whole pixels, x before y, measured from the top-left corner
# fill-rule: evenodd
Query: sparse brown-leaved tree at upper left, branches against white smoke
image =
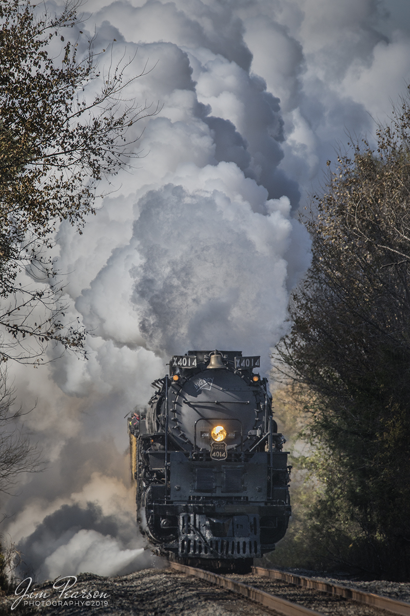
<path id="1" fill-rule="evenodd" d="M 95 213 L 98 182 L 137 156 L 127 129 L 150 115 L 122 99 L 127 63 L 100 75 L 93 41 L 78 59 L 85 35 L 76 8 L 69 2 L 52 18 L 38 15 L 30 0 L 0 0 L 2 360 L 39 362 L 50 340 L 82 349 L 84 332 L 63 323 L 63 290 L 47 249 L 64 219 L 81 233 L 87 214 Z M 67 29 L 78 33 L 76 42 L 65 42 Z M 102 89 L 86 96 L 98 79 Z"/>

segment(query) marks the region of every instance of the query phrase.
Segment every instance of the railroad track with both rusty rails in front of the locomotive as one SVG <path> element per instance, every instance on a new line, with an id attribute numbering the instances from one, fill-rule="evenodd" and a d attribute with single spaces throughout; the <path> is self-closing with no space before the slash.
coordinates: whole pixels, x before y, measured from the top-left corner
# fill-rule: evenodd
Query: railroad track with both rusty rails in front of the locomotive
<path id="1" fill-rule="evenodd" d="M 187 573 L 187 575 L 194 575 L 225 590 L 241 594 L 283 616 L 343 614 L 410 616 L 410 603 L 322 582 L 314 578 L 293 575 L 277 569 L 252 567 L 252 574 L 248 575 L 219 575 L 175 562 L 170 563 L 170 566 L 172 569 Z M 286 590 L 286 586 L 291 590 Z M 299 587 L 299 593 L 295 592 L 295 586 Z M 291 596 L 291 601 L 289 601 L 289 596 Z M 303 605 L 303 603 L 305 604 Z M 307 607 L 306 604 L 311 606 L 313 604 L 315 609 Z"/>

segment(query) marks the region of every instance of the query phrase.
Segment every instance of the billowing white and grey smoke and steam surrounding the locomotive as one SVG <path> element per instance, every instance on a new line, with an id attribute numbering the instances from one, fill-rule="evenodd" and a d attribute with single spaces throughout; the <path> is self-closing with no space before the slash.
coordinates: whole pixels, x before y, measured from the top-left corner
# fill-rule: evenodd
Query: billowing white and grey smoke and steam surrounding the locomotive
<path id="1" fill-rule="evenodd" d="M 140 158 L 102 184 L 110 193 L 84 233 L 58 230 L 55 266 L 89 360 L 9 367 L 16 403 L 36 405 L 23 430 L 46 468 L 4 501 L 2 532 L 39 580 L 158 564 L 135 529 L 124 416 L 188 349 L 261 355 L 268 373 L 310 262 L 297 214 L 326 161 L 352 138 L 371 142 L 410 81 L 410 0 L 81 10 L 102 74 L 111 62 L 126 79 L 143 73 L 124 97 L 158 111 L 130 128 Z"/>

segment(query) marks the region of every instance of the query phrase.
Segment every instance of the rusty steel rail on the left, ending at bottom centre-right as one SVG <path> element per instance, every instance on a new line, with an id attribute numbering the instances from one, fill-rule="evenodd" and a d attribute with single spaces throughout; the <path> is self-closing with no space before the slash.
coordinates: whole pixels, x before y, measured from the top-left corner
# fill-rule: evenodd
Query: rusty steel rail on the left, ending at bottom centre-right
<path id="1" fill-rule="evenodd" d="M 314 612 L 307 607 L 300 606 L 297 603 L 291 603 L 291 601 L 286 601 L 286 599 L 275 597 L 275 595 L 265 593 L 265 591 L 259 590 L 259 588 L 236 582 L 218 573 L 211 573 L 204 569 L 196 569 L 196 567 L 188 567 L 188 565 L 182 565 L 179 564 L 179 562 L 170 562 L 169 565 L 172 569 L 187 573 L 187 575 L 195 575 L 195 577 L 201 580 L 206 580 L 216 586 L 221 586 L 236 594 L 241 594 L 247 599 L 251 599 L 251 601 L 262 604 L 262 606 L 269 607 L 272 610 L 276 610 L 276 612 L 283 614 L 283 616 L 323 616 L 320 612 Z"/>

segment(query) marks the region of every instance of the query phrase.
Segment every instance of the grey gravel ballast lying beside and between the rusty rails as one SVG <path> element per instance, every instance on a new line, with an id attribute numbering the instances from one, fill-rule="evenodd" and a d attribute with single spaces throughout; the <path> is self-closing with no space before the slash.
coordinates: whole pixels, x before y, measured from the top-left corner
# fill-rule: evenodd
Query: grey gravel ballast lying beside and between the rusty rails
<path id="1" fill-rule="evenodd" d="M 306 575 L 306 573 L 305 573 Z M 347 601 L 340 596 L 323 593 L 272 580 L 260 575 L 227 574 L 227 578 L 254 586 L 327 616 L 387 616 L 390 612 Z M 313 577 L 310 575 L 310 577 Z M 409 601 L 410 584 L 392 582 L 355 582 L 315 579 L 339 585 L 355 586 L 360 590 L 385 594 L 392 599 Z M 145 569 L 123 577 L 100 577 L 90 573 L 78 575 L 68 594 L 59 596 L 53 582 L 34 585 L 31 590 L 47 593 L 47 599 L 33 598 L 34 606 L 23 601 L 11 610 L 15 595 L 0 598 L 0 616 L 14 614 L 47 614 L 55 616 L 104 614 L 109 616 L 278 616 L 278 612 L 224 590 L 205 580 L 185 575 L 174 569 Z M 97 598 L 95 598 L 97 593 Z M 105 597 L 101 595 L 105 594 Z M 92 598 L 89 599 L 89 594 Z M 49 604 L 47 605 L 47 602 Z M 410 601 L 409 601 L 410 602 Z M 391 614 L 390 614 L 391 616 Z"/>

